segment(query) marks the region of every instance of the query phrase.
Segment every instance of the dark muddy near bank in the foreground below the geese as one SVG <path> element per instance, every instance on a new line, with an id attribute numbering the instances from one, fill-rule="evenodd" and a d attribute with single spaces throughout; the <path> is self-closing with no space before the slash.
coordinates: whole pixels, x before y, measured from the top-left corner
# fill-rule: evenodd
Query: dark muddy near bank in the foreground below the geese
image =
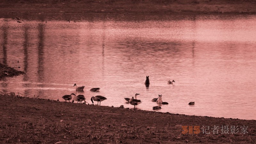
<path id="1" fill-rule="evenodd" d="M 0 108 L 1 143 L 256 142 L 255 120 L 111 108 L 6 93 L 0 95 Z M 222 133 L 224 125 L 228 133 Z M 182 126 L 192 126 L 191 134 L 182 134 Z M 199 126 L 197 134 L 195 126 Z M 203 133 L 202 128 L 208 126 L 209 130 L 204 130 L 209 134 Z M 214 134 L 212 128 L 217 126 L 218 133 Z M 244 133 L 241 126 L 246 129 Z"/>

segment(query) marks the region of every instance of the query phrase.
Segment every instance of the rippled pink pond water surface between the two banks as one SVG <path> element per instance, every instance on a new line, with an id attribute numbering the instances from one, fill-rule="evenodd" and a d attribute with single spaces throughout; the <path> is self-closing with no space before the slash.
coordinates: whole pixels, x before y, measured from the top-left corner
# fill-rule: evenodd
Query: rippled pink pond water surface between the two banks
<path id="1" fill-rule="evenodd" d="M 124 98 L 140 93 L 143 110 L 162 94 L 169 104 L 159 104 L 160 112 L 256 119 L 255 15 L 71 18 L 0 19 L 0 62 L 27 72 L 0 81 L 2 90 L 60 101 L 74 92 L 89 103 L 102 95 L 101 105 L 129 108 Z"/>

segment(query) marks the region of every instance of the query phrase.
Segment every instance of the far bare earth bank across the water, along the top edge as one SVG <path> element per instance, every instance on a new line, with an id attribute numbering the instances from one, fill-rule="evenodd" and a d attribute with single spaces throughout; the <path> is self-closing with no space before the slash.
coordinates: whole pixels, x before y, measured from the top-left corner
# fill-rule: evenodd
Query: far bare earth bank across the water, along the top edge
<path id="1" fill-rule="evenodd" d="M 255 13 L 253 0 L 2 0 L 0 14 Z"/>

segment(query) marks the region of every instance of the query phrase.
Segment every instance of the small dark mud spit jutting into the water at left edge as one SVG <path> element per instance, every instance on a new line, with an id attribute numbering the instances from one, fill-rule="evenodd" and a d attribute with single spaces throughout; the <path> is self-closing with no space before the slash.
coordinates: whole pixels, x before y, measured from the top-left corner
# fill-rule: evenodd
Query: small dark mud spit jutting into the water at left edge
<path id="1" fill-rule="evenodd" d="M 0 80 L 4 79 L 4 77 L 19 76 L 22 74 L 25 74 L 25 72 L 17 70 L 15 68 L 8 67 L 7 65 L 0 63 Z"/>

